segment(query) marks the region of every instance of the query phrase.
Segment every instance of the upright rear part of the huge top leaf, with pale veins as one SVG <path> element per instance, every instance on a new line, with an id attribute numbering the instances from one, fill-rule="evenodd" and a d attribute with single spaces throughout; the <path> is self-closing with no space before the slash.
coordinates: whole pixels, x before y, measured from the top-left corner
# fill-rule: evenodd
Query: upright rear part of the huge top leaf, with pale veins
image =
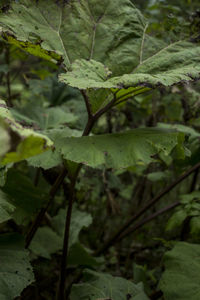
<path id="1" fill-rule="evenodd" d="M 21 0 L 0 16 L 0 26 L 10 43 L 54 61 L 61 55 L 67 69 L 77 58 L 94 58 L 122 74 L 139 62 L 145 22 L 129 0 L 72 0 L 64 5 Z"/>

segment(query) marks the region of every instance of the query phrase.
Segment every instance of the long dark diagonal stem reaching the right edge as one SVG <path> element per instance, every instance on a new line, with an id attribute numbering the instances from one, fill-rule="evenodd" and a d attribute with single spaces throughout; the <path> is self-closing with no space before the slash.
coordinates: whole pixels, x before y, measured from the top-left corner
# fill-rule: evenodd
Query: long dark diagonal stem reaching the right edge
<path id="1" fill-rule="evenodd" d="M 145 205 L 138 213 L 132 216 L 105 244 L 95 252 L 95 255 L 100 255 L 104 253 L 108 248 L 110 248 L 122 235 L 122 233 L 135 222 L 140 216 L 142 216 L 150 207 L 152 207 L 156 202 L 158 202 L 164 195 L 169 193 L 177 184 L 182 182 L 186 177 L 195 172 L 200 168 L 200 163 L 190 168 L 187 172 L 181 175 L 177 180 L 167 186 L 163 191 L 161 191 L 157 196 L 155 196 L 147 205 Z"/>

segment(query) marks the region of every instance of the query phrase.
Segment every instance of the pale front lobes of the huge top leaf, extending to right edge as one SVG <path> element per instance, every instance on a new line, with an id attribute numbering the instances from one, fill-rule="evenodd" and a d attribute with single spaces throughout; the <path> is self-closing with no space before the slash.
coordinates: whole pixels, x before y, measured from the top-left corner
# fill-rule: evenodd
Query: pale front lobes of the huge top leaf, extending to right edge
<path id="1" fill-rule="evenodd" d="M 109 79 L 111 72 L 102 63 L 82 59 L 76 60 L 72 71 L 59 78 L 79 89 L 171 86 L 200 77 L 199 56 L 200 47 L 181 41 L 149 57 L 130 74 Z"/>

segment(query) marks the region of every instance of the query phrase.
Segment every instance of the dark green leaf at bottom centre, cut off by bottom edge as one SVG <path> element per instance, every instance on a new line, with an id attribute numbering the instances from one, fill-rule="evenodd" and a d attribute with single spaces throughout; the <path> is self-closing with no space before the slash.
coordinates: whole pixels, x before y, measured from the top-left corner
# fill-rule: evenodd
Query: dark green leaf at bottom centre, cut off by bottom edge
<path id="1" fill-rule="evenodd" d="M 148 300 L 149 298 L 145 295 L 141 284 L 134 284 L 124 278 L 87 270 L 84 271 L 84 283 L 73 285 L 71 299 Z"/>

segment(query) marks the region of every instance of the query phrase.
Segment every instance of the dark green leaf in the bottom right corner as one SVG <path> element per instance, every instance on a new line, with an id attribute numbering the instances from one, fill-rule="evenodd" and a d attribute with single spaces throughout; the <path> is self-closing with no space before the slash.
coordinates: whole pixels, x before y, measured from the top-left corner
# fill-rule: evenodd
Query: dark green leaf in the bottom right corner
<path id="1" fill-rule="evenodd" d="M 200 299 L 200 246 L 178 242 L 164 256 L 160 289 L 166 300 Z"/>

